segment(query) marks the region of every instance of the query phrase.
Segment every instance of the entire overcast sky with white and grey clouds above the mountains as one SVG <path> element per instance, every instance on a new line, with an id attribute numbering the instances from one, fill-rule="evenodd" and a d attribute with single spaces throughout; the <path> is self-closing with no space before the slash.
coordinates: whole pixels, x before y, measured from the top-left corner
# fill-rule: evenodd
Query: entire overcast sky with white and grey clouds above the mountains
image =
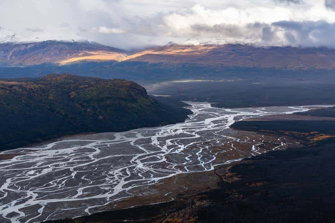
<path id="1" fill-rule="evenodd" d="M 0 26 L 132 49 L 188 38 L 335 46 L 335 0 L 0 0 Z"/>

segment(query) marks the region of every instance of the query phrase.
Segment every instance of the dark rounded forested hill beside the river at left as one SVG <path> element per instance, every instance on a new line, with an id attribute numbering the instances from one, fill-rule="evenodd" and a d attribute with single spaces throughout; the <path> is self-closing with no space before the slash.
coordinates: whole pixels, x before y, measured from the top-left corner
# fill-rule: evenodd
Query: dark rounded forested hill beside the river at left
<path id="1" fill-rule="evenodd" d="M 184 121 L 135 82 L 70 74 L 0 81 L 0 149 L 82 132 L 113 132 Z"/>

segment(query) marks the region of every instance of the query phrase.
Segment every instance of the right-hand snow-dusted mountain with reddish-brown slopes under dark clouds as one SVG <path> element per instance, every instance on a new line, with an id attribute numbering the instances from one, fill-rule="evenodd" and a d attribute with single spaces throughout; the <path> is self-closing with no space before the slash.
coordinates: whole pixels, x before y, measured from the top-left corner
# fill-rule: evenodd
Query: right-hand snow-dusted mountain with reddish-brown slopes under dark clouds
<path id="1" fill-rule="evenodd" d="M 257 46 L 225 41 L 172 43 L 142 50 L 127 61 L 170 65 L 198 64 L 225 67 L 334 69 L 335 50 L 327 47 Z"/>

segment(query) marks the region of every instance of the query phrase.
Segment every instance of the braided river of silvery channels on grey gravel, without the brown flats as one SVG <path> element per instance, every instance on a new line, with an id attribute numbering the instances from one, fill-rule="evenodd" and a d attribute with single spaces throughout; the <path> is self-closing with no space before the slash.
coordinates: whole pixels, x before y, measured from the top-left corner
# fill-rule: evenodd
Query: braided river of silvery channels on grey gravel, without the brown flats
<path id="1" fill-rule="evenodd" d="M 240 151 L 234 143 L 241 139 L 229 126 L 250 117 L 308 110 L 303 106 L 221 109 L 205 102 L 187 103 L 193 114 L 183 123 L 75 135 L 1 152 L 18 155 L 0 160 L 0 221 L 92 214 L 97 207 L 138 196 L 133 188 L 145 190 L 143 186 L 164 178 L 211 171 L 216 165 L 261 154 L 266 152 L 259 146 L 262 138 L 244 139 L 250 149 Z M 229 147 L 223 146 L 227 143 Z M 216 157 L 228 151 L 233 155 L 217 162 Z"/>

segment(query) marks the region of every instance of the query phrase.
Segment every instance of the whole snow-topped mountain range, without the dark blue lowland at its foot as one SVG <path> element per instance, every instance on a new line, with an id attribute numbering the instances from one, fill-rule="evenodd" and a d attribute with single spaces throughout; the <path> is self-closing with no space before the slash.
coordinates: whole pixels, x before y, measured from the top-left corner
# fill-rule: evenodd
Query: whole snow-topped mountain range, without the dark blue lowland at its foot
<path id="1" fill-rule="evenodd" d="M 335 50 L 327 47 L 261 46 L 248 41 L 217 38 L 188 39 L 135 52 L 74 36 L 26 38 L 0 27 L 0 65 L 28 66 L 77 62 L 143 62 L 176 66 L 271 68 L 284 70 L 335 69 Z"/>

